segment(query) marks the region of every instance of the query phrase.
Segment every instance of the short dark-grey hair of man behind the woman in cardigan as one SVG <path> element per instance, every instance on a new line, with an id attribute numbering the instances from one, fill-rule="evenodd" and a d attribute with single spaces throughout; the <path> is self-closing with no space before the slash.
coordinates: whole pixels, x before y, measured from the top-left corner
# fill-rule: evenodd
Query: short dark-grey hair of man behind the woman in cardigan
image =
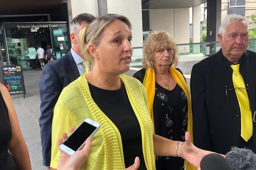
<path id="1" fill-rule="evenodd" d="M 80 24 L 82 22 L 91 23 L 95 19 L 96 19 L 96 17 L 94 17 L 92 14 L 88 14 L 88 13 L 83 13 L 83 14 L 79 14 L 79 15 L 75 16 L 75 18 L 73 18 L 73 20 L 70 22 L 69 33 L 74 33 L 74 34 L 78 35 L 79 30 L 80 30 Z"/>

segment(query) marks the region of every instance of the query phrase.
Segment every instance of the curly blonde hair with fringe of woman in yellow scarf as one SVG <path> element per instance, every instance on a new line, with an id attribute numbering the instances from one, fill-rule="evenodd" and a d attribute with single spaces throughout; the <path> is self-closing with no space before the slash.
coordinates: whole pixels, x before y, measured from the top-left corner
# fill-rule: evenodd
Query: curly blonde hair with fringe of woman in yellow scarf
<path id="1" fill-rule="evenodd" d="M 173 49 L 173 59 L 170 67 L 177 65 L 178 53 L 175 40 L 167 32 L 158 30 L 151 33 L 143 45 L 142 64 L 144 68 L 150 68 L 151 70 L 154 68 L 154 53 L 160 47 Z"/>

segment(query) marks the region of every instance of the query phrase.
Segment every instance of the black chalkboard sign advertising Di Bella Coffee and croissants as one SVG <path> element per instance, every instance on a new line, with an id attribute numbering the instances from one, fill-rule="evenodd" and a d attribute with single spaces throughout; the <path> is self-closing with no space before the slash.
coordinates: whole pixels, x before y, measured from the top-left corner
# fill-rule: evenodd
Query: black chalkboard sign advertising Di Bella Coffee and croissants
<path id="1" fill-rule="evenodd" d="M 21 65 L 2 67 L 2 80 L 10 94 L 23 93 L 25 98 L 25 86 Z"/>

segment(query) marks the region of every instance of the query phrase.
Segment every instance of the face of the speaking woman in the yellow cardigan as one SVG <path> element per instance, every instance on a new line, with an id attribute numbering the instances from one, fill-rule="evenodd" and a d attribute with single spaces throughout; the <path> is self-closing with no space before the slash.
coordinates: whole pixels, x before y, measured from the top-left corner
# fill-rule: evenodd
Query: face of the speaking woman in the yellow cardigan
<path id="1" fill-rule="evenodd" d="M 132 33 L 125 22 L 113 21 L 103 30 L 101 41 L 96 47 L 100 67 L 108 73 L 122 74 L 129 71 L 132 57 Z M 95 57 L 97 59 L 97 56 Z"/>

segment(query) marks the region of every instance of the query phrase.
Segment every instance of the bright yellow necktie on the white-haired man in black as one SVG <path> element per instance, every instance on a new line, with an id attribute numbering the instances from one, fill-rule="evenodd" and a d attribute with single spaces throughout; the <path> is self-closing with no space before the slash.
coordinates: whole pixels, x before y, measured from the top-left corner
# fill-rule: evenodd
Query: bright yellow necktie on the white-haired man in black
<path id="1" fill-rule="evenodd" d="M 233 69 L 232 79 L 241 112 L 241 137 L 247 142 L 252 137 L 252 114 L 246 89 L 242 89 L 245 85 L 239 66 L 240 64 L 236 64 L 230 67 Z M 241 88 L 238 89 L 239 87 Z"/>

